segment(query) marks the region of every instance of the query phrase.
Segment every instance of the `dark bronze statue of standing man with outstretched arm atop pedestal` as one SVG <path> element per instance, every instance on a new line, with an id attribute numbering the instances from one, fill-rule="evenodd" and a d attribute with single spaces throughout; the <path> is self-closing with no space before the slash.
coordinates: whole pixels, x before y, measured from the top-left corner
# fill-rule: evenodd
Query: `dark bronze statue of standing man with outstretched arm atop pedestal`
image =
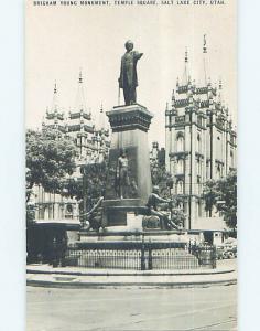
<path id="1" fill-rule="evenodd" d="M 121 70 L 118 82 L 119 88 L 123 89 L 124 103 L 128 106 L 137 103 L 137 63 L 138 60 L 143 55 L 143 53 L 133 51 L 133 43 L 130 40 L 126 42 L 124 46 L 127 52 L 121 57 Z"/>

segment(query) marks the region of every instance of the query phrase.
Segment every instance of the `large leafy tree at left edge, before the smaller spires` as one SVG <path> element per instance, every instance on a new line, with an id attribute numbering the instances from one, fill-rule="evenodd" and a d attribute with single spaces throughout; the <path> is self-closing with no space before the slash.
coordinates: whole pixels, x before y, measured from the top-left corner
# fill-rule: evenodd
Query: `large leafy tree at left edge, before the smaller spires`
<path id="1" fill-rule="evenodd" d="M 61 193 L 64 178 L 75 170 L 76 146 L 55 129 L 26 131 L 26 202 L 33 185 Z"/>

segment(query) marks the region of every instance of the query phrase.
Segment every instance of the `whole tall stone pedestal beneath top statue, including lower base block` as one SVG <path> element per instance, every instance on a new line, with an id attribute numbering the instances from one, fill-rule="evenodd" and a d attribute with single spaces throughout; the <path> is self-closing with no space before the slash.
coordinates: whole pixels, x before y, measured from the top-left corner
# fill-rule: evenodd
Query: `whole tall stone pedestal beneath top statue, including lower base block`
<path id="1" fill-rule="evenodd" d="M 137 215 L 140 212 L 152 190 L 148 130 L 153 116 L 139 104 L 113 107 L 107 111 L 107 116 L 112 136 L 104 201 L 105 224 L 127 226 L 128 218 L 132 220 L 132 213 Z M 118 180 L 118 160 L 122 150 L 128 159 L 128 184 L 123 186 L 123 199 L 120 196 Z"/>

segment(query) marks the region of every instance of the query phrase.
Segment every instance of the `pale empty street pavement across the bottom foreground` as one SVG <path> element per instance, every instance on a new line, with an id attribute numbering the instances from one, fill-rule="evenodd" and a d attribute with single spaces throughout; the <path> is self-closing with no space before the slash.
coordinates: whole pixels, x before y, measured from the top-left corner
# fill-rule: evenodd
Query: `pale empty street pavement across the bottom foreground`
<path id="1" fill-rule="evenodd" d="M 28 286 L 28 331 L 237 330 L 237 286 L 68 289 Z"/>

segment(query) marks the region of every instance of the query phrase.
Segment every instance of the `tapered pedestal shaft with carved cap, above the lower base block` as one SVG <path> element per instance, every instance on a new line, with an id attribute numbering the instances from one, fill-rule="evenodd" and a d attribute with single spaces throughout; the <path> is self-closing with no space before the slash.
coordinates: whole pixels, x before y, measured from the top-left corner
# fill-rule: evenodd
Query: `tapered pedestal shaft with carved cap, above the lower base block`
<path id="1" fill-rule="evenodd" d="M 152 114 L 143 106 L 113 107 L 107 113 L 112 129 L 109 151 L 109 172 L 106 184 L 106 200 L 139 199 L 145 204 L 151 192 L 151 174 L 147 132 Z M 124 150 L 128 159 L 124 182 L 120 182 L 118 160 Z M 120 188 L 123 184 L 123 188 Z M 120 189 L 123 194 L 120 194 Z M 123 195 L 123 196 L 121 196 Z"/>

